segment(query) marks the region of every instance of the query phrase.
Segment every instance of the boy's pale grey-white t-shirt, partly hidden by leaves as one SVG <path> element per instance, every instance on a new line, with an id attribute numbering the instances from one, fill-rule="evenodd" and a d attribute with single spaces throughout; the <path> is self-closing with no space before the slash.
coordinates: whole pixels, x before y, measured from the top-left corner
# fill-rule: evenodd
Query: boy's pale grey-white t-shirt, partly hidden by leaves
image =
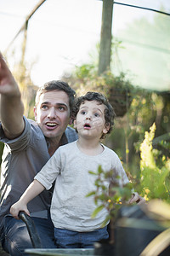
<path id="1" fill-rule="evenodd" d="M 110 148 L 98 155 L 83 154 L 77 142 L 60 146 L 54 155 L 37 173 L 37 179 L 46 189 L 50 189 L 55 181 L 54 195 L 51 204 L 51 218 L 55 228 L 75 230 L 79 232 L 93 231 L 101 228 L 108 212 L 103 209 L 96 218 L 91 218 L 97 207 L 94 196 L 89 192 L 96 189 L 94 183 L 97 176 L 88 171 L 97 172 L 102 166 L 105 172 L 113 170 L 113 178 L 121 177 L 118 183 L 128 183 L 127 175 L 121 160 Z M 105 183 L 109 188 L 109 182 Z"/>

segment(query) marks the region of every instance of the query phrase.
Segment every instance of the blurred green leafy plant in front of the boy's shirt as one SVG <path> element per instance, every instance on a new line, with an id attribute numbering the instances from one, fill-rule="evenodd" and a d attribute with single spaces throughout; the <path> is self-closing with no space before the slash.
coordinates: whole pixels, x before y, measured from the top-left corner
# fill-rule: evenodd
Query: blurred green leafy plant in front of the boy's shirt
<path id="1" fill-rule="evenodd" d="M 119 186 L 116 180 L 118 180 L 120 177 L 114 177 L 113 170 L 110 172 L 105 172 L 101 166 L 99 166 L 98 172 L 89 173 L 96 176 L 96 189 L 89 192 L 87 195 L 94 195 L 94 201 L 97 206 L 92 213 L 92 218 L 95 218 L 95 216 L 103 208 L 107 209 L 108 215 L 106 216 L 102 225 L 105 226 L 109 219 L 115 220 L 118 209 L 122 206 L 122 204 L 126 204 L 126 202 L 131 198 L 133 193 L 133 185 L 132 183 L 127 183 L 124 187 Z M 109 189 L 107 186 L 105 186 L 105 181 L 110 183 Z"/>

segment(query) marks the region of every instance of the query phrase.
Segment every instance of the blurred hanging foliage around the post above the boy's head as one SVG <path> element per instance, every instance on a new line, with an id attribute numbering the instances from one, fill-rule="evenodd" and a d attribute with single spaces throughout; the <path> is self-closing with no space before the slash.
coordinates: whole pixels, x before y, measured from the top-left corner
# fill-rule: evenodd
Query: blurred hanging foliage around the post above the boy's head
<path id="1" fill-rule="evenodd" d="M 98 75 L 96 66 L 83 64 L 77 67 L 71 78 L 71 87 L 82 96 L 88 91 L 98 91 L 108 97 L 115 110 L 116 116 L 123 116 L 132 102 L 133 85 L 126 78 L 125 73 L 115 76 L 111 71 Z"/>

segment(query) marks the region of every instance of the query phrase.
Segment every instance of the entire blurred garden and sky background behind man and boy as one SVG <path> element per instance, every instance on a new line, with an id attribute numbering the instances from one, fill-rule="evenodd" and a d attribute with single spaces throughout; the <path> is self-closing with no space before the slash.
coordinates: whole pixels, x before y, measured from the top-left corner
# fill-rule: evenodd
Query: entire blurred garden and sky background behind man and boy
<path id="1" fill-rule="evenodd" d="M 144 168 L 148 177 L 166 169 L 155 184 L 168 195 L 170 1 L 0 0 L 0 31 L 0 50 L 20 84 L 26 117 L 34 118 L 36 90 L 50 80 L 65 80 L 77 95 L 105 93 L 117 118 L 104 143 L 137 186 Z M 140 188 L 146 198 L 155 196 L 150 186 L 147 178 Z"/>

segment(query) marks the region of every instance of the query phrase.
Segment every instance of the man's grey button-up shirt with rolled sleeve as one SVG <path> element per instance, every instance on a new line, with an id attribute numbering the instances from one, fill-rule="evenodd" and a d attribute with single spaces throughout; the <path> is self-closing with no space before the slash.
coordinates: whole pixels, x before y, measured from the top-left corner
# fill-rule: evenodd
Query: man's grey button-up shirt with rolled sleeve
<path id="1" fill-rule="evenodd" d="M 1 166 L 1 201 L 0 223 L 4 215 L 20 195 L 26 190 L 33 178 L 49 160 L 48 144 L 37 123 L 31 119 L 25 119 L 26 127 L 20 137 L 8 140 L 4 136 L 0 124 L 0 141 L 5 143 Z M 61 144 L 71 143 L 77 139 L 77 133 L 71 127 L 67 127 Z M 51 203 L 52 191 L 43 191 L 29 204 L 31 215 L 47 218 L 47 209 Z"/>

